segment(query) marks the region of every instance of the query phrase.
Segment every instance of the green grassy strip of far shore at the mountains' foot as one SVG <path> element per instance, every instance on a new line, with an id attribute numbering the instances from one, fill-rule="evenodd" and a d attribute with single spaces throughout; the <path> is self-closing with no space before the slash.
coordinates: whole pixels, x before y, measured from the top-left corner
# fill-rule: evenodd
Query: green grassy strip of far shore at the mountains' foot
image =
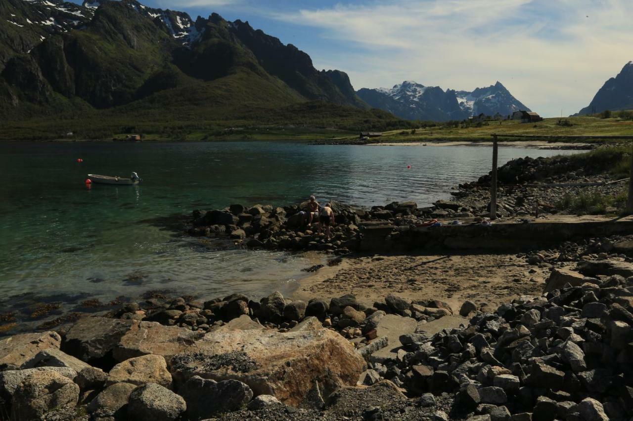
<path id="1" fill-rule="evenodd" d="M 613 112 L 610 118 L 575 116 L 546 118 L 538 123 L 520 123 L 516 120 L 485 121 L 477 124 L 465 121 L 432 123 L 404 121 L 380 110 L 360 111 L 332 104 L 311 104 L 305 109 L 280 112 L 282 115 L 308 113 L 306 121 L 271 118 L 270 124 L 261 125 L 248 118 L 235 121 L 190 121 L 186 118 L 166 118 L 156 124 L 149 119 L 71 117 L 7 121 L 0 129 L 0 141 L 82 141 L 125 140 L 132 134 L 141 135 L 144 142 L 214 142 L 227 140 L 293 140 L 325 144 L 367 143 L 443 143 L 490 142 L 492 134 L 543 136 L 546 142 L 556 143 L 618 143 L 621 140 L 587 139 L 570 140 L 557 136 L 627 136 L 633 135 L 633 119 L 629 111 Z M 329 118 L 336 114 L 337 118 Z M 370 117 L 369 117 L 370 116 Z M 276 123 L 279 121 L 279 123 Z M 282 124 L 281 122 L 284 121 Z M 323 125 L 321 121 L 329 121 Z M 334 121 L 334 123 L 332 123 Z M 361 139 L 361 131 L 375 131 L 380 137 Z M 72 134 L 70 134 L 72 133 Z M 532 138 L 503 138 L 501 144 L 537 142 Z"/>

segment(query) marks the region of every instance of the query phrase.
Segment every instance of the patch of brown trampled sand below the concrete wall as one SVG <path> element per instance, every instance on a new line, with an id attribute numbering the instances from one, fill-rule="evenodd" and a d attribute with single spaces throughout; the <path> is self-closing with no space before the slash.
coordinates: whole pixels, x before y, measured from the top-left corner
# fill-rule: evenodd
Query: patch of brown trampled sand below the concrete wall
<path id="1" fill-rule="evenodd" d="M 372 255 L 344 259 L 301 279 L 294 298 L 332 298 L 351 293 L 366 305 L 389 294 L 441 300 L 458 311 L 471 300 L 496 308 L 520 295 L 540 295 L 547 269 L 515 254 L 444 253 Z"/>

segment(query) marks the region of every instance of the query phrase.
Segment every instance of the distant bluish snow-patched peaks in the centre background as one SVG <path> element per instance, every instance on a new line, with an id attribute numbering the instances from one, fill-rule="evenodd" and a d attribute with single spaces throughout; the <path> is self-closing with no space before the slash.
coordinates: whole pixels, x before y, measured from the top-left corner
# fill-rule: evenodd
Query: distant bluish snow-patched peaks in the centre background
<path id="1" fill-rule="evenodd" d="M 499 82 L 468 92 L 404 81 L 392 88 L 362 88 L 356 94 L 372 107 L 411 120 L 448 121 L 480 113 L 508 116 L 518 110 L 530 111 Z"/>

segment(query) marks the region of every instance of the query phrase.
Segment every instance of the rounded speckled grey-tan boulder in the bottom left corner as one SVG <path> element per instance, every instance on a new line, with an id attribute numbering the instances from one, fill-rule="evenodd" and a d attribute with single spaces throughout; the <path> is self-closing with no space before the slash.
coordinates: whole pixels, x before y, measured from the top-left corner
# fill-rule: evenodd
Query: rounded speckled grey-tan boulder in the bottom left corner
<path id="1" fill-rule="evenodd" d="M 12 420 L 39 420 L 61 408 L 75 408 L 79 386 L 68 377 L 51 370 L 35 371 L 15 390 L 11 400 Z"/>

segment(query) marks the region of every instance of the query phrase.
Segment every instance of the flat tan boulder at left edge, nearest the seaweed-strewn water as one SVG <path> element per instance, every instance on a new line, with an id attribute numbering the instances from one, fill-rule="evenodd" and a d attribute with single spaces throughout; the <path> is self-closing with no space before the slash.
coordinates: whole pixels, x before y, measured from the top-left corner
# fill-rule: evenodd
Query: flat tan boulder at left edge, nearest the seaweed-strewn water
<path id="1" fill-rule="evenodd" d="M 60 335 L 54 332 L 24 333 L 0 339 L 0 371 L 19 370 L 40 351 L 59 349 Z"/>

